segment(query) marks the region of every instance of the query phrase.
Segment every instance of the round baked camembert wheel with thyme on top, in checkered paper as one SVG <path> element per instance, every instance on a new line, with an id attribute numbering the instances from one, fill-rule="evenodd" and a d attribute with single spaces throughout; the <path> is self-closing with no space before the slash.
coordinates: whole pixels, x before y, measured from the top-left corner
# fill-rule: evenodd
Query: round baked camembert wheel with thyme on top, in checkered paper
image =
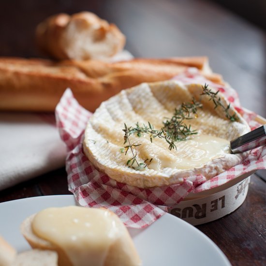
<path id="1" fill-rule="evenodd" d="M 189 134 L 172 142 L 167 121 L 182 103 L 192 110 L 183 121 L 186 128 L 181 126 Z M 182 115 L 177 113 L 172 121 Z M 109 177 L 149 188 L 200 174 L 209 179 L 235 166 L 243 155 L 231 154 L 230 140 L 249 131 L 227 100 L 207 85 L 143 83 L 101 104 L 89 119 L 83 148 L 89 161 Z"/>

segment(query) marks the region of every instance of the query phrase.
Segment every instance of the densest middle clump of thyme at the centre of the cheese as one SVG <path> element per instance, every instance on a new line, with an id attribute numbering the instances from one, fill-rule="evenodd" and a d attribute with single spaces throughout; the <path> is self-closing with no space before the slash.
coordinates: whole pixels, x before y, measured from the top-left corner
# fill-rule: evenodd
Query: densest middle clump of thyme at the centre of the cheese
<path id="1" fill-rule="evenodd" d="M 185 123 L 186 120 L 197 118 L 197 109 L 202 107 L 202 103 L 192 99 L 191 103 L 182 103 L 170 120 L 163 122 L 163 130 L 169 134 L 173 141 L 185 140 L 189 135 L 197 134 L 195 130 L 191 129 L 191 125 Z M 191 117 L 194 114 L 194 117 Z"/>

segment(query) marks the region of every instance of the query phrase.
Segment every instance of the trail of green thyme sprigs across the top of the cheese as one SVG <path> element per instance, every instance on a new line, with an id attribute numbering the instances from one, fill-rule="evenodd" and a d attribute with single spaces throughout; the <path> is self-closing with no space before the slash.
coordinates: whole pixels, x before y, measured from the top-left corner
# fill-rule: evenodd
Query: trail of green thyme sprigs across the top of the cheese
<path id="1" fill-rule="evenodd" d="M 219 90 L 217 92 L 213 92 L 211 89 L 208 89 L 207 84 L 202 86 L 202 89 L 203 91 L 200 96 L 207 95 L 209 101 L 213 101 L 215 105 L 214 109 L 216 109 L 218 106 L 221 106 L 225 112 L 226 118 L 230 119 L 231 121 L 237 121 L 236 113 L 233 115 L 230 115 L 229 113 L 230 104 L 227 106 L 223 105 L 221 97 L 218 96 Z M 164 139 L 169 144 L 169 150 L 172 148 L 177 148 L 175 145 L 176 141 L 186 140 L 188 136 L 197 134 L 195 130 L 192 130 L 191 125 L 187 125 L 185 121 L 197 118 L 197 110 L 198 108 L 202 108 L 202 106 L 203 105 L 201 101 L 196 101 L 194 98 L 192 98 L 192 102 L 190 103 L 182 103 L 179 108 L 175 108 L 172 118 L 167 118 L 166 121 L 163 121 L 163 128 L 161 128 L 161 130 L 155 130 L 154 126 L 150 122 L 148 122 L 148 126 L 145 124 L 140 126 L 138 122 L 136 123 L 135 127 L 127 127 L 127 125 L 124 124 L 124 145 L 128 144 L 124 146 L 125 155 L 127 154 L 128 150 L 130 150 L 132 153 L 132 157 L 127 161 L 128 167 L 135 170 L 144 170 L 148 163 L 152 161 L 152 158 L 146 159 L 142 163 L 137 161 L 137 152 L 134 153 L 133 148 L 140 146 L 141 144 L 131 143 L 129 138 L 131 134 L 136 133 L 138 137 L 141 137 L 144 134 L 149 134 L 150 142 L 152 142 L 154 138 L 158 137 Z M 193 117 L 192 114 L 194 115 Z M 124 149 L 121 148 L 120 151 L 124 152 Z M 136 163 L 137 166 L 134 166 L 134 163 Z"/>

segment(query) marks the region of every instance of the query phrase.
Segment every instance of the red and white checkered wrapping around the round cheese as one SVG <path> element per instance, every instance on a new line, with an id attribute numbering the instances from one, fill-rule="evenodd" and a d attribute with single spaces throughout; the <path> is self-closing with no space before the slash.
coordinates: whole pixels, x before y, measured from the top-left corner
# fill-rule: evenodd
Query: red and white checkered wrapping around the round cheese
<path id="1" fill-rule="evenodd" d="M 259 126 L 253 121 L 254 113 L 240 108 L 234 89 L 228 86 L 217 87 L 217 84 L 206 80 L 194 69 L 178 75 L 175 79 L 183 83 L 207 83 L 214 86 L 252 123 L 252 128 Z M 171 186 L 150 189 L 129 186 L 97 171 L 83 153 L 84 130 L 91 115 L 76 102 L 71 89 L 65 91 L 56 108 L 59 133 L 68 148 L 66 170 L 69 190 L 80 205 L 106 207 L 115 212 L 129 227 L 144 228 L 150 225 L 161 217 L 168 207 L 176 205 L 190 192 L 214 188 L 244 173 L 266 168 L 266 148 L 263 147 L 253 150 L 242 164 L 208 181 L 199 175 L 186 178 L 182 184 Z"/>

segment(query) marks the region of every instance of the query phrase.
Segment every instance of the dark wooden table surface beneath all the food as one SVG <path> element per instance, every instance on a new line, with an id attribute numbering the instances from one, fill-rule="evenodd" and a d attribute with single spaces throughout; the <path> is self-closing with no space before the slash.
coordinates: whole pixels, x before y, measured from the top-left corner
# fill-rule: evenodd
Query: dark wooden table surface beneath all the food
<path id="1" fill-rule="evenodd" d="M 1 1 L 0 56 L 41 57 L 35 26 L 49 15 L 84 10 L 115 23 L 135 57 L 208 56 L 213 71 L 237 90 L 242 106 L 266 117 L 266 34 L 210 1 Z M 0 202 L 70 194 L 66 177 L 64 168 L 36 177 L 1 191 Z M 266 265 L 266 182 L 252 175 L 241 207 L 197 228 L 232 265 Z"/>

